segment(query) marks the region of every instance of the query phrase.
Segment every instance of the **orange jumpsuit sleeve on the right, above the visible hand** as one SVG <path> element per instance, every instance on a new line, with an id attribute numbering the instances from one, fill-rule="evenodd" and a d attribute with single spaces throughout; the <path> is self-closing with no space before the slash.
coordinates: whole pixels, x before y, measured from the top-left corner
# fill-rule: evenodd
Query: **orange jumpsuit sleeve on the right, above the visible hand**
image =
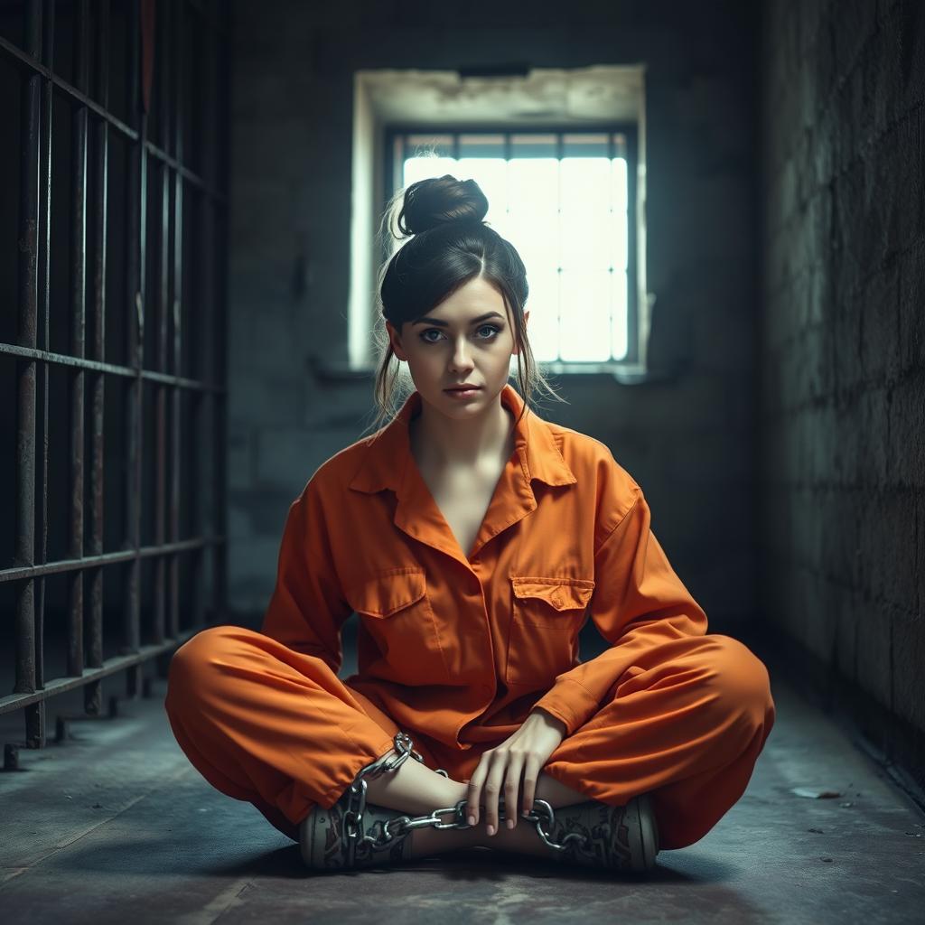
<path id="1" fill-rule="evenodd" d="M 566 727 L 587 722 L 616 692 L 639 653 L 662 643 L 707 632 L 707 614 L 674 573 L 650 527 L 642 489 L 595 553 L 591 618 L 611 648 L 556 677 L 534 706 Z"/>

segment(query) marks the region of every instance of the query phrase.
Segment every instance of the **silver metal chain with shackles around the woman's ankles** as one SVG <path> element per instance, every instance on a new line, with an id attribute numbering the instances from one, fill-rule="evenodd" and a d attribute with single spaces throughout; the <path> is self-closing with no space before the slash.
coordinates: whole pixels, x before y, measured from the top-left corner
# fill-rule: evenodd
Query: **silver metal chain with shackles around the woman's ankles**
<path id="1" fill-rule="evenodd" d="M 348 840 L 348 867 L 352 868 L 355 864 L 357 852 L 361 855 L 371 854 L 374 849 L 381 851 L 392 845 L 402 835 L 413 832 L 414 829 L 424 829 L 433 827 L 435 829 L 472 829 L 466 820 L 468 800 L 460 800 L 452 807 L 434 809 L 424 816 L 396 816 L 390 820 L 376 820 L 370 827 L 370 831 L 363 830 L 363 817 L 366 808 L 366 781 L 369 777 L 375 779 L 383 773 L 395 773 L 401 768 L 409 758 L 416 761 L 424 761 L 423 756 L 414 750 L 413 740 L 407 733 L 397 733 L 394 737 L 396 754 L 390 757 L 388 753 L 380 759 L 376 759 L 371 764 L 367 764 L 353 780 L 348 788 L 347 808 L 344 812 L 344 837 Z M 450 775 L 439 769 L 438 774 L 443 777 Z M 354 806 L 355 804 L 355 806 Z M 442 821 L 441 817 L 450 814 L 452 819 L 449 822 Z M 504 815 L 504 798 L 499 797 L 499 823 L 506 820 Z M 554 842 L 549 837 L 555 823 L 556 814 L 546 800 L 535 799 L 533 808 L 522 817 L 524 822 L 532 822 L 536 827 L 536 833 L 540 839 L 555 851 L 565 851 L 570 842 L 576 842 L 578 851 L 586 852 L 589 845 L 589 839 L 581 833 L 568 833 L 561 843 Z M 544 825 L 544 822 L 546 825 Z M 376 827 L 378 832 L 373 834 Z M 548 827 L 547 827 L 548 826 Z M 362 833 L 362 835 L 361 835 Z M 366 847 L 369 845 L 369 848 Z"/>

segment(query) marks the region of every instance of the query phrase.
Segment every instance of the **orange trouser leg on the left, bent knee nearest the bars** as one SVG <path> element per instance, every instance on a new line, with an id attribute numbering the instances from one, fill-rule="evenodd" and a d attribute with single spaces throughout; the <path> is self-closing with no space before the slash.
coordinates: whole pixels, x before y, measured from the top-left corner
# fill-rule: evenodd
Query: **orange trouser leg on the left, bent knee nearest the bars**
<path id="1" fill-rule="evenodd" d="M 210 627 L 177 650 L 164 706 L 197 771 L 295 839 L 399 732 L 326 662 L 242 626 Z"/>

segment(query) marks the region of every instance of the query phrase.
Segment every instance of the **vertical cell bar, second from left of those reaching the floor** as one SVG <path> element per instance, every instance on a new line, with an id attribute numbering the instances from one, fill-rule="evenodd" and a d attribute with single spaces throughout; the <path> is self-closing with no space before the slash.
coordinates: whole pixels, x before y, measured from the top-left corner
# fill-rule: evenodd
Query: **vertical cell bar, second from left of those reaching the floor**
<path id="1" fill-rule="evenodd" d="M 96 88 L 104 106 L 109 105 L 109 0 L 97 0 L 97 56 Z M 105 289 L 106 289 L 106 213 L 109 158 L 109 127 L 105 119 L 99 119 L 94 127 L 96 144 L 94 170 L 96 178 L 96 201 L 93 207 L 93 240 L 95 261 L 93 264 L 93 355 L 101 363 L 105 360 Z M 90 467 L 90 551 L 94 556 L 103 554 L 104 529 L 104 433 L 105 418 L 105 376 L 94 372 L 91 376 L 93 396 L 93 438 Z M 90 619 L 88 624 L 87 660 L 91 668 L 103 664 L 103 569 L 94 568 L 88 574 L 90 580 Z M 102 685 L 96 681 L 84 688 L 83 709 L 98 716 L 103 707 Z"/>

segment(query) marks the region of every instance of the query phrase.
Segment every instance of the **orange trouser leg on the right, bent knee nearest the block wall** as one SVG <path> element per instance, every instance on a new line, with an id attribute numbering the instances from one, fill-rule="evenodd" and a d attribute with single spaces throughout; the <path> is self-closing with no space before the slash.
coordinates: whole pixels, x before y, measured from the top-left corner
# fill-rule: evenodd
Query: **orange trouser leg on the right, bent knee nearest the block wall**
<path id="1" fill-rule="evenodd" d="M 675 639 L 641 653 L 614 693 L 543 770 L 612 806 L 650 793 L 661 847 L 693 844 L 745 793 L 771 733 L 764 663 L 731 636 Z"/>

